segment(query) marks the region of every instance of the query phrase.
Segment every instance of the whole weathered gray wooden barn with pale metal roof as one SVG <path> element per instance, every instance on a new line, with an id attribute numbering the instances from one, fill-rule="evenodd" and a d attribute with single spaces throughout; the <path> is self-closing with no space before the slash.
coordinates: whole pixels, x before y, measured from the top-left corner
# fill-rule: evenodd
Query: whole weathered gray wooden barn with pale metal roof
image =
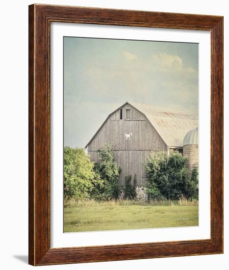
<path id="1" fill-rule="evenodd" d="M 122 169 L 119 184 L 125 185 L 126 175 L 133 179 L 136 174 L 137 186 L 142 187 L 144 164 L 150 152 L 182 152 L 184 136 L 196 127 L 195 110 L 126 102 L 108 115 L 86 148 L 91 161 L 98 162 L 97 150 L 110 143 Z"/>

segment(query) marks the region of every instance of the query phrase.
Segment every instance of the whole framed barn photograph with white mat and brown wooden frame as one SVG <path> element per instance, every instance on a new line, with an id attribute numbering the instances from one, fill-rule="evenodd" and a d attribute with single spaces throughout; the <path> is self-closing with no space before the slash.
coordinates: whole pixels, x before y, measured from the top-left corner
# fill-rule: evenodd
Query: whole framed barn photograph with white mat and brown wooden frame
<path id="1" fill-rule="evenodd" d="M 29 264 L 223 253 L 223 17 L 29 6 Z"/>

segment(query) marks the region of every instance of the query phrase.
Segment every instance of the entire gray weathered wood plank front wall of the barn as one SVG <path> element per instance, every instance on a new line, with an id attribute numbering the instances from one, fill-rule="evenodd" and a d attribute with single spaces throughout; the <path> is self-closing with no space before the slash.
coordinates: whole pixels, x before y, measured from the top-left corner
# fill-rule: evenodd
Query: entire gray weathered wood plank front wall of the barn
<path id="1" fill-rule="evenodd" d="M 167 145 L 155 131 L 143 113 L 126 104 L 123 108 L 123 120 L 120 110 L 113 112 L 88 144 L 88 154 L 93 162 L 98 162 L 97 150 L 109 142 L 114 150 L 116 162 L 122 171 L 119 184 L 125 185 L 125 176 L 137 175 L 137 185 L 145 182 L 144 163 L 151 151 L 166 150 Z M 130 120 L 126 120 L 126 109 L 130 108 Z M 125 133 L 132 133 L 126 140 Z"/>

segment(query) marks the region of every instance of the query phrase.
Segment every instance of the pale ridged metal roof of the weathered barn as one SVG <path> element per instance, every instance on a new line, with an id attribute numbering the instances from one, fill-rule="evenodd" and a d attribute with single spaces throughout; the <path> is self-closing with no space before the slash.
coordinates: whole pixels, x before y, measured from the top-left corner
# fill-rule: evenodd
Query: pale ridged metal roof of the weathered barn
<path id="1" fill-rule="evenodd" d="M 182 147 L 184 136 L 198 127 L 197 110 L 145 103 L 128 103 L 141 111 L 169 147 Z"/>

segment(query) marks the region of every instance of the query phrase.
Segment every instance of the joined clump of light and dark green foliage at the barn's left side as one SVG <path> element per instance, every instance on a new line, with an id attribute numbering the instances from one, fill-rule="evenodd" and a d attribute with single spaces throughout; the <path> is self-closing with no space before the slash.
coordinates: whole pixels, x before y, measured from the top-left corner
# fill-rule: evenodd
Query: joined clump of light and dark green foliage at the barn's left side
<path id="1" fill-rule="evenodd" d="M 80 148 L 64 148 L 64 197 L 110 200 L 120 194 L 120 168 L 109 144 L 99 151 L 100 162 L 94 164 Z"/>

